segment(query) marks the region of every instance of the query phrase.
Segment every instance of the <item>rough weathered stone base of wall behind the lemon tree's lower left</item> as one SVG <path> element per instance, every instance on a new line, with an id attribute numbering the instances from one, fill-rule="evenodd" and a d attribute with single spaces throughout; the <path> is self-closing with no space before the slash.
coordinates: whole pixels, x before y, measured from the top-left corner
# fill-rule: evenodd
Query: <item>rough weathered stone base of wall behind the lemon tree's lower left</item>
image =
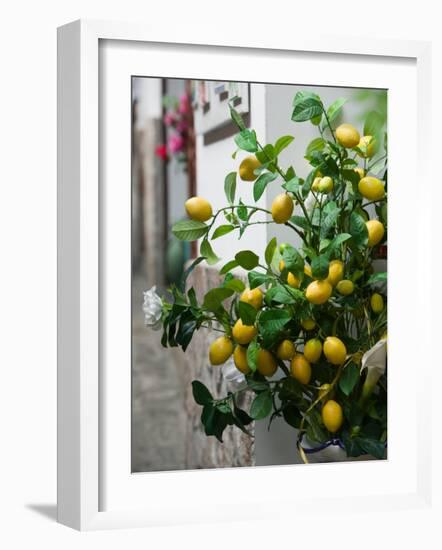
<path id="1" fill-rule="evenodd" d="M 218 272 L 207 266 L 198 265 L 189 277 L 189 287 L 195 288 L 198 300 L 215 285 L 219 284 Z M 254 439 L 243 433 L 236 426 L 228 426 L 223 434 L 223 443 L 215 437 L 207 437 L 201 424 L 201 406 L 197 405 L 192 396 L 192 380 L 200 380 L 212 395 L 217 398 L 227 395 L 228 388 L 221 373 L 221 367 L 213 367 L 208 360 L 210 343 L 219 333 L 202 329 L 195 334 L 193 340 L 181 355 L 182 375 L 186 382 L 185 411 L 187 423 L 186 436 L 186 467 L 223 468 L 235 466 L 254 466 Z M 241 396 L 238 405 L 245 410 L 250 407 L 250 396 Z M 250 431 L 254 434 L 254 426 Z"/>

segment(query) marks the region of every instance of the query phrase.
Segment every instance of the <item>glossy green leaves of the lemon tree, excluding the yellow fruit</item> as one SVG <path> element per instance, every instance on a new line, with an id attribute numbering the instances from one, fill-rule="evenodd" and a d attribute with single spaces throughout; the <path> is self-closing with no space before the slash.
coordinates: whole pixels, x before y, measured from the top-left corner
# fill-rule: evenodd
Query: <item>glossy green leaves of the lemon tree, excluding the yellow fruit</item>
<path id="1" fill-rule="evenodd" d="M 368 247 L 366 226 L 368 215 L 377 216 L 388 230 L 387 200 L 366 208 L 370 201 L 358 190 L 359 175 L 355 168 L 363 168 L 369 175 L 379 172 L 388 189 L 386 109 L 378 102 L 367 110 L 360 124 L 346 121 L 354 124 L 361 135 L 372 135 L 376 139 L 374 157 L 361 159 L 357 150 L 346 149 L 336 140 L 334 128 L 338 120 L 345 120 L 341 117 L 345 103 L 346 100 L 338 98 L 326 107 L 315 93 L 303 91 L 295 95 L 292 120 L 309 121 L 318 130 L 317 137 L 305 151 L 309 168 L 304 174 L 300 167 L 297 175 L 293 166 L 281 166 L 278 159 L 293 143 L 294 136 L 285 135 L 275 143 L 261 145 L 255 131 L 246 128 L 242 116 L 230 102 L 230 115 L 239 130 L 234 138 L 236 147 L 254 154 L 261 163 L 255 170 L 252 204 L 245 204 L 238 197 L 243 184 L 237 182 L 237 173 L 232 171 L 224 180 L 225 208 L 215 212 L 207 223 L 184 220 L 172 228 L 181 240 L 201 239 L 200 256 L 187 268 L 179 287 L 170 289 L 171 298 L 163 297 L 162 344 L 185 350 L 197 330 L 210 326 L 231 337 L 237 319 L 257 328 L 256 336 L 246 346 L 251 372 L 246 375 L 244 386 L 216 399 L 201 382 L 192 383 L 194 399 L 202 407 L 204 431 L 219 441 L 224 430 L 232 426 L 250 435 L 249 425 L 254 420 L 266 418 L 270 427 L 277 417 L 299 430 L 299 436 L 306 435 L 314 443 L 328 441 L 332 434 L 322 421 L 323 401 L 319 399 L 321 386 L 328 384 L 331 386 L 329 397 L 343 409 L 344 421 L 334 437 L 342 441 L 347 455 L 385 456 L 387 376 L 381 376 L 375 391 L 367 397 L 362 392 L 366 373 L 361 373 L 361 358 L 387 329 L 386 309 L 376 315 L 370 308 L 374 291 L 386 294 L 387 273 L 373 271 L 379 248 Z M 233 158 L 235 156 L 236 153 Z M 318 176 L 333 179 L 333 188 L 327 193 L 312 189 Z M 288 242 L 279 247 L 276 238 L 272 238 L 261 263 L 253 250 L 241 250 L 233 259 L 225 259 L 227 263 L 219 271 L 219 284 L 202 299 L 193 287 L 186 293 L 186 281 L 188 284 L 189 275 L 199 263 L 206 261 L 213 265 L 219 261 L 211 241 L 227 235 L 241 238 L 246 231 L 253 231 L 255 223 L 272 223 L 270 212 L 254 204 L 271 182 L 294 199 L 295 211 L 284 228 L 293 230 L 294 238 L 288 238 Z M 344 278 L 354 283 L 352 294 L 342 295 L 334 287 L 325 303 L 310 303 L 306 297 L 307 286 L 312 279 L 326 279 L 330 261 L 334 259 L 343 262 Z M 259 309 L 239 299 L 246 287 L 246 276 L 250 289 L 259 287 L 264 295 Z M 307 319 L 313 319 L 314 323 L 306 326 Z M 298 353 L 302 353 L 307 340 L 318 338 L 323 342 L 332 335 L 345 343 L 348 358 L 344 365 L 336 367 L 322 354 L 312 365 L 312 377 L 307 385 L 293 378 L 289 363 L 276 355 L 278 345 L 285 339 L 294 342 Z M 272 353 L 278 365 L 271 380 L 257 370 L 260 349 Z M 237 398 L 242 392 L 252 394 L 247 411 L 238 407 Z"/>

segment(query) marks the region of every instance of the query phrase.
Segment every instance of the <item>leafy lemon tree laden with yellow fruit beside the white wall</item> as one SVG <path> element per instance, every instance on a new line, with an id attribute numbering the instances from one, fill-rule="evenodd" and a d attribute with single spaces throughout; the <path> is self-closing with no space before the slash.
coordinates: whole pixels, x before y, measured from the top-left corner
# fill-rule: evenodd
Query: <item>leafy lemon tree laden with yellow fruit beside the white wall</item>
<path id="1" fill-rule="evenodd" d="M 387 330 L 387 274 L 373 266 L 387 239 L 385 120 L 371 112 L 361 128 L 352 121 L 338 126 L 344 103 L 295 95 L 294 132 L 298 124 L 318 131 L 302 175 L 279 162 L 283 150 L 296 146 L 294 136 L 261 143 L 230 106 L 238 126 L 233 157 L 244 156 L 225 177 L 226 205 L 214 211 L 206 198 L 192 197 L 189 219 L 173 227 L 179 239 L 200 240 L 200 255 L 163 298 L 162 343 L 186 350 L 195 331 L 209 328 L 211 368 L 233 360 L 245 376 L 222 399 L 193 382 L 205 433 L 220 441 L 228 426 L 249 433 L 253 420 L 266 418 L 270 426 L 282 417 L 300 449 L 304 436 L 318 444 L 337 437 L 348 456 L 384 456 L 387 377 L 369 385 L 361 361 Z M 269 185 L 278 193 L 267 210 L 257 203 Z M 253 186 L 251 203 L 242 200 L 241 186 Z M 221 262 L 217 239 L 240 238 L 258 223 L 283 224 L 293 240 L 272 239 L 264 257 L 241 250 Z M 221 282 L 198 300 L 186 281 L 201 262 L 218 264 Z M 237 406 L 241 392 L 253 395 L 248 411 Z"/>

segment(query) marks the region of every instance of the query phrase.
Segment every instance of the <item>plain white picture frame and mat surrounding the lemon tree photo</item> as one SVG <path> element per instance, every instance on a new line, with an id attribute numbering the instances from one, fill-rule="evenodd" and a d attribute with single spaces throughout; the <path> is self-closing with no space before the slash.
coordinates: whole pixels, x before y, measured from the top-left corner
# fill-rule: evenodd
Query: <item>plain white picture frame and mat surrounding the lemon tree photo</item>
<path id="1" fill-rule="evenodd" d="M 106 292 L 102 285 L 103 266 L 106 262 L 102 261 L 103 225 L 100 225 L 100 212 L 103 207 L 115 208 L 115 200 L 117 200 L 117 197 L 114 197 L 112 204 L 103 206 L 103 189 L 100 187 L 102 174 L 99 163 L 101 148 L 99 120 L 100 113 L 105 108 L 100 102 L 100 75 L 101 64 L 109 62 L 109 58 L 103 58 L 100 54 L 100 45 L 104 41 L 118 43 L 122 49 L 126 50 L 140 44 L 144 44 L 147 49 L 149 45 L 152 48 L 159 48 L 159 52 L 161 47 L 164 47 L 168 52 L 173 52 L 175 59 L 179 59 L 183 66 L 182 70 L 186 68 L 185 61 L 188 56 L 198 54 L 203 60 L 215 52 L 218 52 L 216 55 L 222 56 L 228 49 L 232 80 L 235 78 L 239 80 L 240 74 L 238 67 L 235 68 L 235 59 L 245 54 L 250 56 L 253 54 L 256 59 L 272 57 L 277 60 L 279 56 L 282 61 L 296 54 L 300 59 L 308 59 L 308 64 L 313 59 L 324 67 L 332 62 L 345 64 L 373 60 L 379 64 L 388 63 L 390 72 L 395 64 L 398 66 L 401 63 L 410 64 L 415 71 L 413 78 L 417 83 L 417 94 L 413 95 L 414 88 L 410 91 L 412 95 L 409 97 L 413 102 L 409 108 L 416 113 L 417 119 L 413 119 L 410 123 L 412 129 L 414 129 L 413 125 L 416 125 L 416 140 L 408 141 L 409 158 L 411 166 L 415 163 L 416 168 L 419 167 L 421 180 L 430 181 L 427 168 L 430 163 L 425 147 L 431 116 L 428 95 L 430 79 L 430 45 L 428 43 L 364 40 L 360 37 L 343 38 L 342 36 L 313 39 L 297 33 L 296 37 L 281 36 L 271 44 L 265 44 L 263 48 L 257 38 L 245 35 L 238 37 L 235 42 L 226 40 L 224 43 L 217 41 L 214 44 L 201 37 L 194 38 L 189 43 L 185 36 L 175 34 L 172 37 L 159 28 L 146 28 L 136 24 L 76 21 L 61 27 L 58 31 L 58 521 L 80 530 L 230 521 L 237 517 L 234 511 L 224 505 L 228 502 L 227 500 L 223 500 L 220 496 L 215 508 L 207 507 L 207 500 L 205 500 L 208 497 L 207 487 L 225 487 L 226 484 L 230 484 L 231 488 L 240 489 L 236 497 L 236 505 L 245 510 L 243 519 L 268 518 L 268 509 L 264 507 L 266 502 L 284 504 L 279 507 L 274 517 L 285 515 L 292 517 L 295 510 L 300 515 L 309 513 L 312 509 L 315 513 L 321 514 L 338 501 L 342 512 L 355 505 L 365 511 L 428 506 L 431 500 L 431 446 L 428 445 L 430 431 L 425 419 L 429 416 L 431 403 L 428 393 L 423 388 L 425 384 L 429 384 L 431 361 L 430 357 L 425 357 L 425 351 L 421 361 L 420 379 L 411 382 L 403 381 L 403 387 L 406 387 L 407 392 L 412 392 L 411 395 L 416 397 L 408 410 L 405 410 L 407 403 L 404 397 L 395 391 L 394 381 L 398 378 L 395 377 L 395 371 L 392 369 L 392 396 L 389 406 L 393 428 L 396 430 L 393 430 L 393 436 L 389 439 L 389 460 L 385 463 L 332 464 L 318 467 L 312 465 L 302 470 L 302 477 L 301 470 L 296 466 L 131 476 L 130 470 L 126 468 L 130 446 L 125 448 L 130 430 L 130 426 L 125 422 L 130 415 L 126 410 L 130 396 L 121 401 L 120 418 L 122 420 L 114 419 L 116 437 L 121 436 L 121 439 L 114 439 L 109 443 L 102 429 L 102 415 L 103 411 L 106 412 L 103 403 L 108 399 L 114 399 L 115 391 L 119 386 L 118 379 L 114 379 L 111 384 L 103 384 L 103 357 L 100 349 L 100 335 L 104 320 L 101 306 L 103 293 Z M 148 65 L 149 70 L 153 71 L 152 75 L 158 76 L 153 67 L 155 58 L 150 59 L 152 65 Z M 126 63 L 127 59 L 121 56 L 120 61 Z M 251 65 L 253 66 L 253 63 Z M 204 63 L 200 67 L 204 67 Z M 130 72 L 130 68 L 124 70 Z M 276 71 L 277 68 L 271 65 L 266 70 L 269 81 L 276 81 L 272 80 L 276 77 L 272 76 L 271 71 Z M 398 69 L 397 72 L 401 71 Z M 195 69 L 195 74 L 177 73 L 177 76 L 212 78 L 211 74 L 197 73 L 198 69 Z M 326 73 L 327 71 L 324 71 L 322 77 L 324 83 L 328 78 Z M 241 74 L 244 75 L 243 70 Z M 339 72 L 335 74 L 339 75 Z M 227 79 L 225 74 L 220 77 Z M 348 84 L 350 77 L 346 78 L 347 80 L 339 81 L 339 76 L 335 76 L 335 84 L 345 85 L 344 82 Z M 249 80 L 248 73 L 243 79 Z M 253 80 L 253 67 L 250 71 L 250 80 Z M 305 79 L 303 82 L 308 83 Z M 357 86 L 362 82 L 363 77 L 355 73 L 353 85 Z M 399 94 L 395 97 L 400 101 Z M 389 120 L 392 121 L 392 126 L 389 128 L 392 135 L 389 142 L 393 159 L 392 177 L 396 175 L 406 189 L 411 189 L 414 184 L 413 173 L 408 175 L 401 173 L 400 167 L 394 161 L 395 157 L 396 159 L 399 157 L 399 149 L 404 145 L 405 138 L 401 136 L 398 118 L 393 114 L 392 117 L 389 116 Z M 397 138 L 396 142 L 394 137 Z M 124 168 L 124 166 L 122 162 L 120 167 Z M 130 165 L 126 168 L 129 171 Z M 430 186 L 422 186 L 420 193 L 422 203 L 431 201 Z M 401 265 L 403 266 L 403 255 L 406 254 L 405 245 L 401 244 L 400 238 L 401 227 L 404 228 L 406 222 L 401 220 L 400 208 L 413 207 L 413 198 L 411 196 L 407 199 L 401 195 L 401 206 L 394 206 L 395 200 L 398 200 L 398 194 L 395 193 L 393 186 L 391 199 L 393 231 L 392 238 L 389 238 L 389 273 L 397 284 L 391 288 L 391 298 L 389 290 L 389 300 L 393 304 L 389 315 L 392 327 L 391 331 L 389 328 L 389 347 L 393 350 L 391 357 L 393 366 L 395 363 L 402 362 L 403 371 L 409 372 L 407 369 L 410 361 L 407 363 L 406 355 L 399 346 L 395 347 L 395 342 L 399 343 L 400 340 L 398 336 L 400 330 L 404 331 L 405 337 L 407 336 L 406 320 L 403 316 L 401 319 L 399 308 L 401 292 L 405 287 L 401 286 L 396 274 Z M 430 220 L 425 209 L 419 205 L 416 216 L 419 220 L 419 231 L 415 240 L 409 244 L 410 246 L 420 244 L 417 259 L 420 266 L 419 277 L 421 286 L 429 289 L 433 285 L 429 254 L 433 243 Z M 121 238 L 121 241 L 123 242 L 124 239 Z M 123 265 L 120 274 L 124 279 L 127 276 L 124 261 L 120 263 Z M 128 269 L 129 266 L 127 266 Z M 416 292 L 415 296 L 410 297 L 408 304 L 410 316 L 430 315 L 429 295 L 428 292 L 426 294 Z M 394 309 L 396 306 L 397 314 Z M 125 305 L 122 304 L 121 308 L 123 311 Z M 124 315 L 122 317 L 124 318 Z M 431 341 L 433 330 L 429 327 L 426 334 L 422 336 L 422 349 L 430 349 L 431 346 L 425 346 L 425 344 Z M 127 340 L 127 334 L 122 335 L 121 338 Z M 124 353 L 124 349 L 118 351 Z M 126 387 L 127 373 L 125 376 L 125 382 L 118 391 L 121 391 L 121 388 L 124 391 Z M 401 453 L 405 449 L 406 441 L 400 435 L 400 421 L 398 422 L 395 418 L 391 403 L 397 410 L 401 410 L 402 418 L 407 420 L 407 425 L 410 427 L 411 451 L 410 456 L 407 457 L 403 452 Z M 121 448 L 120 451 L 116 451 L 116 460 L 112 463 L 103 462 L 103 455 L 109 452 L 109 445 L 113 445 L 112 448 L 115 449 L 116 443 L 119 443 Z M 355 466 L 359 470 L 356 470 Z M 322 496 L 321 487 L 318 485 L 315 488 L 313 485 L 314 479 L 329 475 L 330 472 L 333 472 L 335 485 L 331 491 L 329 489 L 329 496 Z M 121 479 L 114 479 L 119 475 Z M 287 484 L 290 476 L 293 476 L 293 481 L 296 477 L 299 494 L 285 494 L 281 497 L 279 492 L 274 491 L 274 486 L 277 484 L 281 486 L 281 483 Z M 376 479 L 380 479 L 379 476 L 384 476 L 386 480 L 385 489 L 382 491 L 376 483 Z M 363 488 L 355 492 L 355 482 L 360 478 L 364 478 L 366 484 L 364 485 L 361 481 Z M 402 486 L 401 483 L 406 478 L 410 484 Z M 253 489 L 257 480 L 261 487 L 259 494 Z M 388 480 L 391 481 L 390 484 L 387 483 Z M 108 506 L 103 501 L 103 483 L 114 484 L 112 506 Z M 141 492 L 141 495 L 146 495 L 148 494 L 146 491 L 149 491 L 149 500 L 152 504 L 140 506 L 136 499 L 131 502 L 134 491 L 138 491 L 140 495 L 140 487 L 144 492 Z"/>

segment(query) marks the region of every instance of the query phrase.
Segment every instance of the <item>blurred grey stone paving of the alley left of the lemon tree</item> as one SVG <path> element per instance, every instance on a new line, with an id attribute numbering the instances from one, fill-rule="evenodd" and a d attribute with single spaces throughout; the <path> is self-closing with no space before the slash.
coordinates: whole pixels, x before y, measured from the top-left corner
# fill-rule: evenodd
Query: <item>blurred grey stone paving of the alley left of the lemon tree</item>
<path id="1" fill-rule="evenodd" d="M 161 331 L 144 326 L 146 278 L 132 285 L 132 471 L 185 468 L 184 381 L 179 352 L 161 346 Z"/>

